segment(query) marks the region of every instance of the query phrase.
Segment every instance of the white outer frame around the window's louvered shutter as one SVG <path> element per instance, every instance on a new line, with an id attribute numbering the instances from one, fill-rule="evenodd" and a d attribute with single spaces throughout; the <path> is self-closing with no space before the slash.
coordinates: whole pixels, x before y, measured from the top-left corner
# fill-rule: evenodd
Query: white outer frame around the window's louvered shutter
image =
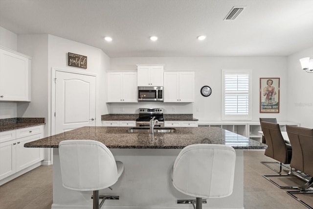
<path id="1" fill-rule="evenodd" d="M 248 114 L 225 114 L 225 75 L 248 75 Z M 251 120 L 252 119 L 252 70 L 222 69 L 222 120 Z"/>

